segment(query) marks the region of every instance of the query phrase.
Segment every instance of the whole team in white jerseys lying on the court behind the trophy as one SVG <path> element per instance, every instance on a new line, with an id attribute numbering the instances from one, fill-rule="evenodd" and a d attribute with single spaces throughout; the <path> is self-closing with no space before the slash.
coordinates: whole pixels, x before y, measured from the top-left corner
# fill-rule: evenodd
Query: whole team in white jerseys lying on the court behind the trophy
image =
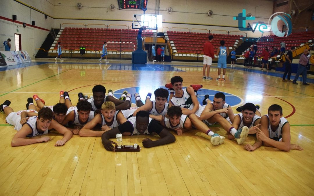
<path id="1" fill-rule="evenodd" d="M 145 104 L 135 93 L 137 107 L 131 107 L 131 93 L 124 91 L 121 98 L 116 99 L 111 89 L 105 96 L 106 88 L 96 85 L 92 98 L 78 93 L 76 106 L 73 106 L 68 92 L 60 91 L 59 103 L 54 106 L 45 106 L 45 101 L 34 95 L 36 105 L 33 98 L 28 98 L 27 110 L 14 112 L 9 107 L 11 102 L 6 100 L 0 105 L 0 111 L 7 115 L 7 123 L 18 131 L 12 139 L 12 146 L 47 142 L 49 137 L 33 137 L 53 129 L 64 135 L 55 146 L 63 146 L 73 134 L 101 136 L 108 151 L 113 151 L 113 144 L 116 144 L 109 139 L 118 133 L 138 135 L 154 132 L 160 136 L 159 140 L 145 138 L 142 142 L 144 147 L 150 148 L 174 142 L 176 138 L 169 130 L 182 135 L 193 128 L 211 136 L 211 143 L 217 146 L 224 143 L 225 137 L 214 133 L 210 126 L 219 123 L 226 130 L 228 139 L 236 140 L 239 145 L 244 143 L 248 134 L 256 134 L 256 142 L 244 146 L 247 151 L 254 151 L 262 145 L 283 151 L 303 150 L 297 144 L 290 144 L 290 124 L 282 117 L 280 105 L 269 106 L 268 114 L 261 116 L 258 105 L 246 103 L 237 108 L 240 114 L 234 114 L 230 105 L 225 103 L 224 93 L 216 93 L 213 101 L 205 95 L 201 105 L 195 92 L 202 85 L 182 89 L 182 82 L 180 76 L 175 76 L 165 85 L 170 90 L 169 103 L 169 92 L 164 88 L 154 91 L 153 101 L 150 100 L 151 93 L 148 93 Z"/>

